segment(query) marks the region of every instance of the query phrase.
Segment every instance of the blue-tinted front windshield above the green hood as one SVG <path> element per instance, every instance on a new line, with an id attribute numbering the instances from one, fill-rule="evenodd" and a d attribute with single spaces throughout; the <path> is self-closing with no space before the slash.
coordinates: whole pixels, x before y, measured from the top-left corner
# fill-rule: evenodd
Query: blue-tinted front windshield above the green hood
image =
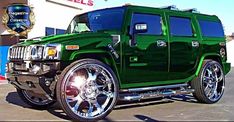
<path id="1" fill-rule="evenodd" d="M 121 30 L 124 8 L 98 10 L 76 16 L 70 23 L 67 33 Z"/>

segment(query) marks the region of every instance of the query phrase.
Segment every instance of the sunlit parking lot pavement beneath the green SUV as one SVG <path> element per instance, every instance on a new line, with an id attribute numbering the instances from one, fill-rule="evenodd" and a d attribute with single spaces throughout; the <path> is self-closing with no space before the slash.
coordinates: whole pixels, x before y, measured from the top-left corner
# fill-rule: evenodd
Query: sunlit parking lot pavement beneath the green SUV
<path id="1" fill-rule="evenodd" d="M 217 104 L 197 103 L 191 95 L 164 100 L 119 103 L 107 121 L 232 120 L 234 121 L 234 68 L 226 77 L 223 99 Z M 13 86 L 0 82 L 0 120 L 69 120 L 56 105 L 48 110 L 34 110 L 24 104 Z"/>

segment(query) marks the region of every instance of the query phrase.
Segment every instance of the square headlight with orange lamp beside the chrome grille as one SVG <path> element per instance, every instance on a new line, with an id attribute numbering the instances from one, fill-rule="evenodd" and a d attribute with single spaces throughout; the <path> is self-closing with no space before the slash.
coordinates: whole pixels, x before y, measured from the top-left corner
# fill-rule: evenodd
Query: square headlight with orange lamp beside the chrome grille
<path id="1" fill-rule="evenodd" d="M 55 59 L 59 60 L 61 53 L 61 45 L 60 44 L 48 44 L 45 46 L 43 59 Z"/>

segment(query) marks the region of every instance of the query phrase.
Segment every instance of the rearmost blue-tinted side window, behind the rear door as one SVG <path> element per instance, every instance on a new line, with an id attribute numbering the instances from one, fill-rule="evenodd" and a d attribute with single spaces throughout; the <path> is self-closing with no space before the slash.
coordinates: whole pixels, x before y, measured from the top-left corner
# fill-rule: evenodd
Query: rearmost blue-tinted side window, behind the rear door
<path id="1" fill-rule="evenodd" d="M 205 37 L 224 37 L 223 26 L 220 22 L 199 20 L 202 35 Z"/>

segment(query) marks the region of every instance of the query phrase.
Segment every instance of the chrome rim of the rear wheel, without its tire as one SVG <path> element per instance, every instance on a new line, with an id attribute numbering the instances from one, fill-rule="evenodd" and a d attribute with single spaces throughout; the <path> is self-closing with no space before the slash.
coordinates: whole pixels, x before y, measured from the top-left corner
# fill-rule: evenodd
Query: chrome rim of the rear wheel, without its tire
<path id="1" fill-rule="evenodd" d="M 202 78 L 206 97 L 214 102 L 219 100 L 225 88 L 225 79 L 221 66 L 217 63 L 206 65 Z"/>

